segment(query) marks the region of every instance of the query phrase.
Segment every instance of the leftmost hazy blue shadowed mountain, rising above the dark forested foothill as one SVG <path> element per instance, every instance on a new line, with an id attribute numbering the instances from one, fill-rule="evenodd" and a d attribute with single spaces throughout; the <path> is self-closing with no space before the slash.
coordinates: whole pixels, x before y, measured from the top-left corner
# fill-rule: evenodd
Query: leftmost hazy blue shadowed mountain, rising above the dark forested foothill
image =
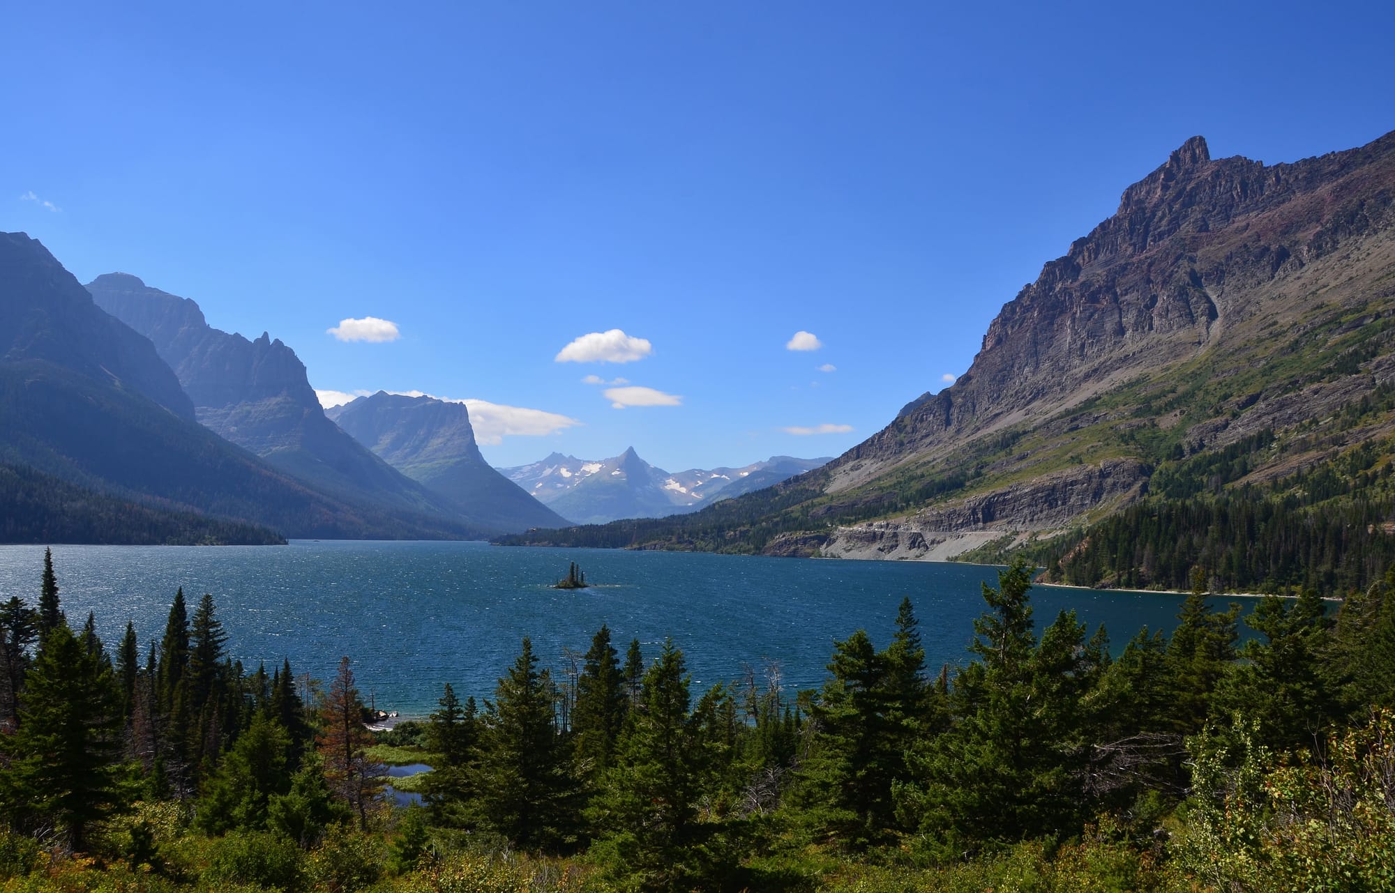
<path id="1" fill-rule="evenodd" d="M 36 240 L 0 234 L 0 462 L 177 513 L 294 537 L 463 537 L 478 527 L 338 498 L 194 420 L 149 339 Z"/>

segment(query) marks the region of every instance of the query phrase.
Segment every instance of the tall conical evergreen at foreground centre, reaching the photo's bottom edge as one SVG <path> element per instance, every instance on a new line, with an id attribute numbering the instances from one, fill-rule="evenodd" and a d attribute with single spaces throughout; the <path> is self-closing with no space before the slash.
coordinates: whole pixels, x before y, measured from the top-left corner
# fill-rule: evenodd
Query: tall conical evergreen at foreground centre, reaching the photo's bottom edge
<path id="1" fill-rule="evenodd" d="M 626 723 L 615 766 L 587 809 L 593 851 L 643 890 L 691 890 L 699 866 L 703 766 L 691 727 L 688 675 L 672 640 L 644 674 L 643 707 Z"/>

